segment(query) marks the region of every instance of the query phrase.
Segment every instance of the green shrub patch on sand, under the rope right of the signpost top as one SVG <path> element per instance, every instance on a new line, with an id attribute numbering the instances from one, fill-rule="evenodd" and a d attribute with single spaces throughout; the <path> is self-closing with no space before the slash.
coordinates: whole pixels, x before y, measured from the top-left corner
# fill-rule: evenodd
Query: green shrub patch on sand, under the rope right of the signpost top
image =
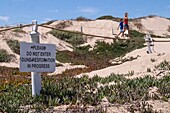
<path id="1" fill-rule="evenodd" d="M 81 35 L 81 34 L 57 31 L 57 30 L 52 30 L 49 33 L 61 40 L 64 40 L 64 41 L 72 44 L 73 46 L 83 44 L 85 42 L 85 39 L 84 39 L 83 35 Z"/>

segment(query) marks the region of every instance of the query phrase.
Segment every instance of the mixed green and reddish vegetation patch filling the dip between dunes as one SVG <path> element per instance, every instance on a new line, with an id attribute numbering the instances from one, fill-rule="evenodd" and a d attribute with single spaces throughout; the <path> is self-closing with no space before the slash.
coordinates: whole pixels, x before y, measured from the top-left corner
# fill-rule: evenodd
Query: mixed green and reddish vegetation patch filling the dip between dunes
<path id="1" fill-rule="evenodd" d="M 96 42 L 93 50 L 90 46 L 76 47 L 73 52 L 58 51 L 56 59 L 60 62 L 86 65 L 90 70 L 105 68 L 111 65 L 109 62 L 116 57 L 124 56 L 126 53 L 144 47 L 144 39 L 141 37 L 131 38 L 126 41 L 117 41 L 112 44 Z"/>

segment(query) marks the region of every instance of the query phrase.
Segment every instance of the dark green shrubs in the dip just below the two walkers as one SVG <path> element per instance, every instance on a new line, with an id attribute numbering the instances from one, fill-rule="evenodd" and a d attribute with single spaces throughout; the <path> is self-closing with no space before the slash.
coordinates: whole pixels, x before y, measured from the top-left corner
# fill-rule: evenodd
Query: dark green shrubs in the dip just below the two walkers
<path id="1" fill-rule="evenodd" d="M 105 42 L 97 42 L 94 47 L 94 52 L 98 55 L 102 54 L 106 58 L 116 58 L 124 56 L 126 53 L 144 47 L 144 39 L 141 37 L 134 37 L 126 41 L 118 41 L 112 44 Z"/>

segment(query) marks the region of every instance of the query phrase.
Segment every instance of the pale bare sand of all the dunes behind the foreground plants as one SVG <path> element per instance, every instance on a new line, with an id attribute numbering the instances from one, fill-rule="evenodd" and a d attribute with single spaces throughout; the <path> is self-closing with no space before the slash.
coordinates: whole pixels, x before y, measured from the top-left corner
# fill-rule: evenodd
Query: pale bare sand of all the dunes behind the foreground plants
<path id="1" fill-rule="evenodd" d="M 56 21 L 50 26 L 55 27 L 57 24 L 63 21 Z M 95 21 L 70 21 L 72 25 L 69 27 L 66 27 L 65 30 L 71 30 L 71 31 L 81 31 L 81 26 L 83 27 L 83 33 L 86 34 L 93 34 L 93 35 L 100 35 L 100 36 L 108 36 L 108 37 L 113 37 L 113 33 L 117 34 L 119 30 L 117 30 L 118 22 L 111 21 L 111 20 L 95 20 Z M 159 35 L 159 36 L 167 36 L 170 35 L 170 32 L 168 32 L 168 27 L 170 26 L 170 20 L 161 18 L 161 17 L 153 17 L 153 18 L 144 18 L 140 19 L 137 22 L 140 22 L 143 26 L 143 29 L 138 29 L 135 26 L 135 22 L 130 23 L 130 26 L 132 29 L 139 30 L 140 32 L 148 32 L 146 30 L 152 31 L 153 34 Z M 6 39 L 16 39 L 19 41 L 25 41 L 25 42 L 31 42 L 30 38 L 30 32 L 31 32 L 31 27 L 25 27 L 23 30 L 26 32 L 26 34 L 22 33 L 16 33 L 12 31 L 7 31 L 3 34 L 0 34 L 0 49 L 6 49 L 8 53 L 14 54 L 12 50 L 8 47 L 6 44 L 5 40 Z M 57 47 L 57 50 L 63 51 L 63 50 L 69 50 L 73 51 L 71 44 L 64 42 L 51 34 L 48 34 L 50 29 L 48 28 L 43 28 L 39 27 L 38 31 L 40 33 L 40 42 L 41 43 L 48 43 L 48 44 L 55 44 Z M 157 39 L 159 40 L 159 39 Z M 162 40 L 162 39 L 161 39 Z M 166 39 L 168 40 L 168 39 Z M 88 37 L 87 42 L 83 45 L 91 45 L 94 46 L 96 41 L 105 41 L 108 43 L 111 43 L 113 40 L 112 39 L 103 39 L 103 38 L 98 38 L 98 37 Z M 140 57 L 137 60 L 131 61 L 131 62 L 125 62 L 121 65 L 118 66 L 111 66 L 105 69 L 101 70 L 96 70 L 92 71 L 90 73 L 86 73 L 89 76 L 93 76 L 95 74 L 98 74 L 99 76 L 108 76 L 110 73 L 128 73 L 129 71 L 135 72 L 135 74 L 140 74 L 140 73 L 146 73 L 147 68 L 153 68 L 154 65 L 158 64 L 164 59 L 170 60 L 168 57 L 170 55 L 170 49 L 169 46 L 170 43 L 161 43 L 157 42 L 155 43 L 154 50 L 156 53 L 153 54 L 146 54 L 147 48 L 135 50 L 127 56 L 133 56 L 136 57 L 139 55 Z M 158 56 L 158 54 L 165 53 L 162 56 Z M 7 66 L 7 67 L 19 67 L 19 55 L 14 54 L 17 58 L 15 62 L 11 63 L 0 63 L 1 66 Z M 156 59 L 155 63 L 152 63 L 150 61 L 151 58 Z M 57 67 L 58 68 L 58 67 Z M 64 70 L 66 69 L 64 66 L 63 68 L 58 68 L 56 71 Z"/>

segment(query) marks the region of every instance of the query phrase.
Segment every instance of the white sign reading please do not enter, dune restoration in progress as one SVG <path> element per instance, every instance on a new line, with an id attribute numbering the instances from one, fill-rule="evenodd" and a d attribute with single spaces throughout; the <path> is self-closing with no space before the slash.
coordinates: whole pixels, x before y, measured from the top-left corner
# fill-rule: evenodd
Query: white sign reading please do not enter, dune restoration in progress
<path id="1" fill-rule="evenodd" d="M 53 44 L 20 43 L 21 72 L 54 72 L 56 46 Z"/>

